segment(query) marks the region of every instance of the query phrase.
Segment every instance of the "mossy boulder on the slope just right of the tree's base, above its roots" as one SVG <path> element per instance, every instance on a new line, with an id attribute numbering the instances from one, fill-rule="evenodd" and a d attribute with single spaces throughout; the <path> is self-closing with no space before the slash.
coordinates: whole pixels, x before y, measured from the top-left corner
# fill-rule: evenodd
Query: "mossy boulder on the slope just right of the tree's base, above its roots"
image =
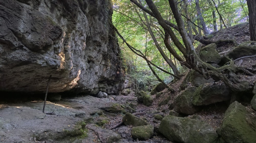
<path id="1" fill-rule="evenodd" d="M 206 63 L 219 64 L 221 61 L 221 55 L 216 50 L 216 44 L 212 43 L 200 49 L 199 56 L 202 61 Z"/>

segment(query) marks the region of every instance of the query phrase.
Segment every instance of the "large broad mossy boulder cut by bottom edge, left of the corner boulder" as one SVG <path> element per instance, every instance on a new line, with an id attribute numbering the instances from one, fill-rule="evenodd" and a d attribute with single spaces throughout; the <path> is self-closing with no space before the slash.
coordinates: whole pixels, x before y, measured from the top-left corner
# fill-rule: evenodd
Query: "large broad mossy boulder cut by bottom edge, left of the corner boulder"
<path id="1" fill-rule="evenodd" d="M 163 118 L 159 131 L 170 141 L 184 143 L 212 143 L 218 138 L 215 130 L 205 122 L 170 115 Z"/>

